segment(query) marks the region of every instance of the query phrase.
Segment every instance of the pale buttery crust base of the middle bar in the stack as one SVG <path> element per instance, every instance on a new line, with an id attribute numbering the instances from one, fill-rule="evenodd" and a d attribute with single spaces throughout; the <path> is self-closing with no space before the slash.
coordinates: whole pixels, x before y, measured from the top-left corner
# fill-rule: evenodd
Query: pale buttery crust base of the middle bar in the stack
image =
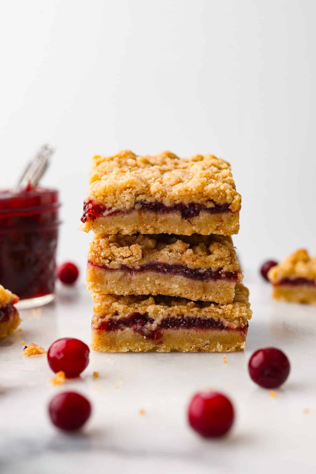
<path id="1" fill-rule="evenodd" d="M 181 296 L 194 301 L 231 303 L 234 300 L 235 282 L 225 279 L 192 280 L 190 278 L 164 273 L 144 271 L 128 273 L 123 270 L 109 270 L 94 265 L 87 267 L 87 289 L 90 293 L 119 295 L 167 295 Z"/>

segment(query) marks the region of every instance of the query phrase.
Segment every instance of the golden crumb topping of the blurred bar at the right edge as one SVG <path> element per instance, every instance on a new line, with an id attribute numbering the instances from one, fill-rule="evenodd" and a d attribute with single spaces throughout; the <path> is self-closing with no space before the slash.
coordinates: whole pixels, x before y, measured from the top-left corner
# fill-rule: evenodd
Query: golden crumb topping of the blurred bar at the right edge
<path id="1" fill-rule="evenodd" d="M 316 280 L 316 257 L 310 257 L 307 250 L 300 248 L 272 267 L 268 278 L 272 283 L 278 283 L 283 278 Z"/>

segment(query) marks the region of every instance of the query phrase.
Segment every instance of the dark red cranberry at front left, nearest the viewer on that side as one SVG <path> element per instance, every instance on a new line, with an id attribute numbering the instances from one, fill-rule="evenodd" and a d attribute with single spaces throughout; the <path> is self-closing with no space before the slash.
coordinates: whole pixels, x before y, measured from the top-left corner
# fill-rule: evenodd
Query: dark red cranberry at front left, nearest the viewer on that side
<path id="1" fill-rule="evenodd" d="M 90 401 L 77 392 L 63 392 L 49 403 L 48 413 L 57 428 L 73 431 L 81 428 L 91 414 Z"/>

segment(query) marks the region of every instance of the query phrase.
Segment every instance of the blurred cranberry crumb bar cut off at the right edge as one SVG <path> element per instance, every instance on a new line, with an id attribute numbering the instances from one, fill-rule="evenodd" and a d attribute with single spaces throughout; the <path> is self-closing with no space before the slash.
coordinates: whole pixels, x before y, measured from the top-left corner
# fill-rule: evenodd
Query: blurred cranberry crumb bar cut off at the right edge
<path id="1" fill-rule="evenodd" d="M 268 278 L 273 285 L 273 298 L 296 303 L 316 304 L 316 257 L 298 249 L 272 267 Z"/>

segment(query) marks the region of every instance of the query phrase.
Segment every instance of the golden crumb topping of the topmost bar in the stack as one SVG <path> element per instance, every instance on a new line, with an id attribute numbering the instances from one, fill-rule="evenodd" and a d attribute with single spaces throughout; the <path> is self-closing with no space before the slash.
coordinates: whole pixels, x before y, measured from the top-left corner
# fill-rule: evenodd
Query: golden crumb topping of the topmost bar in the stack
<path id="1" fill-rule="evenodd" d="M 199 202 L 207 207 L 241 206 L 230 164 L 213 155 L 179 158 L 171 152 L 137 156 L 130 150 L 94 156 L 86 201 L 115 209 L 131 209 L 137 202 L 165 206 Z M 213 202 L 214 201 L 214 202 Z"/>

